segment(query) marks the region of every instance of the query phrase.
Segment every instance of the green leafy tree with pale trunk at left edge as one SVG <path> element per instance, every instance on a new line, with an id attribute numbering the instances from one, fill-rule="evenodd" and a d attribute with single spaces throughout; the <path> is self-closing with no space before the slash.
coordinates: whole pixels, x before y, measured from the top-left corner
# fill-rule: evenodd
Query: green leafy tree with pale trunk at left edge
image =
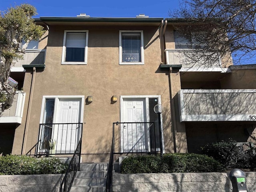
<path id="1" fill-rule="evenodd" d="M 42 26 L 36 25 L 32 16 L 36 8 L 30 4 L 8 8 L 0 12 L 0 108 L 9 108 L 15 88 L 8 85 L 10 68 L 13 62 L 23 58 L 31 40 L 38 40 L 43 34 Z M 22 40 L 24 45 L 22 46 Z"/>

